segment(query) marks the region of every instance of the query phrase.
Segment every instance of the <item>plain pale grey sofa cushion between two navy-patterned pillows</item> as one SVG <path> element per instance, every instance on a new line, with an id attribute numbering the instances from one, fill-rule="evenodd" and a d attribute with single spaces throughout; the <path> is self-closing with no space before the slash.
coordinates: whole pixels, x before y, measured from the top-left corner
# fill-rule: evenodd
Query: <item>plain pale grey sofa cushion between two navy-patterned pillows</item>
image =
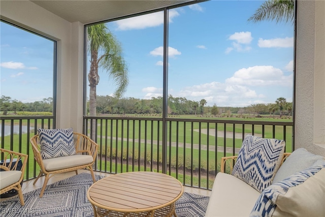
<path id="1" fill-rule="evenodd" d="M 305 148 L 298 148 L 285 159 L 282 166 L 276 172 L 272 183 L 282 181 L 290 175 L 307 169 L 317 160 L 323 160 L 323 158 L 308 152 Z"/>

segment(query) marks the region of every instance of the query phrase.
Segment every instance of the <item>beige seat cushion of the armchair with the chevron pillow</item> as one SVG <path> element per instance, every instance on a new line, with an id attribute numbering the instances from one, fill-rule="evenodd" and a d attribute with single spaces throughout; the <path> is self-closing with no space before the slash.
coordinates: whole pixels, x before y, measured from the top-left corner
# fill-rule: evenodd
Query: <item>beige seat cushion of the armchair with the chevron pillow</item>
<path id="1" fill-rule="evenodd" d="M 43 160 L 43 164 L 46 171 L 54 171 L 90 164 L 92 161 L 93 158 L 89 155 L 77 154 L 66 157 L 46 159 Z"/>

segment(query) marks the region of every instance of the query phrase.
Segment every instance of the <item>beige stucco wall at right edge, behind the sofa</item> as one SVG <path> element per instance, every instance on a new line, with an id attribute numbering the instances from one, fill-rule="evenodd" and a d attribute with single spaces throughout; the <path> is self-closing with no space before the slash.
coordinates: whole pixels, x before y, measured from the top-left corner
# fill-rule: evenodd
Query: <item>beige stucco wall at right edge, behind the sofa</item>
<path id="1" fill-rule="evenodd" d="M 298 1 L 296 149 L 325 156 L 325 2 Z"/>

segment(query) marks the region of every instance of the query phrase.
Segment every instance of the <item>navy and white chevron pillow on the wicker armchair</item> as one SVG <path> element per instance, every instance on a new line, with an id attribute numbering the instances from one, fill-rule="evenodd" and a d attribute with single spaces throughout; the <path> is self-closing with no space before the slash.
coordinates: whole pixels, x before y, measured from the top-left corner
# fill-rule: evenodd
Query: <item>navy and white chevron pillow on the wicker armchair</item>
<path id="1" fill-rule="evenodd" d="M 76 154 L 73 129 L 38 129 L 42 159 L 58 158 Z"/>

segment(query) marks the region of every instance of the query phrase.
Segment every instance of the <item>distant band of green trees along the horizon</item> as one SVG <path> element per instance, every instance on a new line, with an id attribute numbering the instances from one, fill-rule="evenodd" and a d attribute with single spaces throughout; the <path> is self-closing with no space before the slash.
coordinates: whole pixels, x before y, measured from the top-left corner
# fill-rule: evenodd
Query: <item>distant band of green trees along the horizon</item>
<path id="1" fill-rule="evenodd" d="M 252 104 L 247 107 L 217 107 L 206 106 L 205 99 L 197 101 L 187 100 L 185 97 L 168 96 L 168 114 L 171 115 L 213 115 L 218 116 L 226 114 L 243 114 L 259 116 L 263 114 L 291 115 L 293 104 L 286 102 L 285 98 L 278 98 L 274 103 Z M 2 96 L 0 98 L 0 110 L 3 115 L 8 111 L 14 114 L 17 111 L 29 112 L 53 112 L 53 98 L 44 98 L 42 101 L 22 103 L 21 101 L 12 100 L 10 97 Z M 150 100 L 136 99 L 133 97 L 116 99 L 111 96 L 96 96 L 96 114 L 162 114 L 163 98 L 152 97 Z M 87 115 L 89 113 L 89 100 L 87 101 Z M 223 115 L 224 116 L 224 115 Z"/>

